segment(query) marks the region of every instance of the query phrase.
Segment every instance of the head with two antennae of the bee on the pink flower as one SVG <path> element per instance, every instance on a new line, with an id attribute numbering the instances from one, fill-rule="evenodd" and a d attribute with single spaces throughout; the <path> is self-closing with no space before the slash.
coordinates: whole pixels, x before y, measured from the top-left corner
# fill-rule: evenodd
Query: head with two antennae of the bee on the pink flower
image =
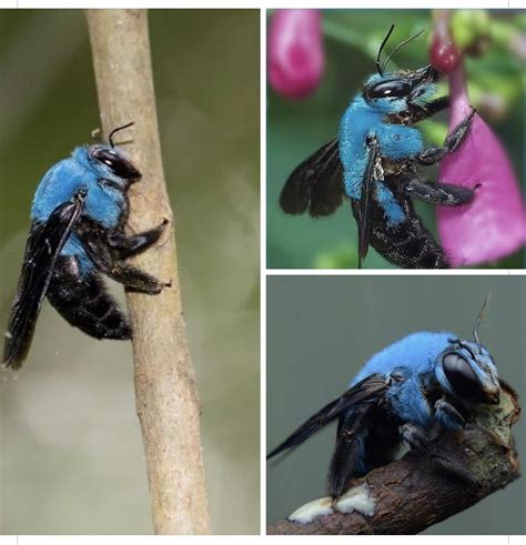
<path id="1" fill-rule="evenodd" d="M 424 32 L 424 30 L 421 30 L 417 34 L 399 43 L 381 63 L 382 50 L 387 43 L 393 30 L 394 24 L 391 26 L 384 41 L 380 46 L 376 57 L 376 70 L 378 73 L 372 75 L 365 82 L 363 89 L 365 101 L 372 108 L 384 113 L 401 113 L 409 110 L 415 104 L 425 105 L 435 92 L 434 82 L 441 75 L 431 64 L 418 70 L 386 72 L 385 65 L 393 54 Z"/>

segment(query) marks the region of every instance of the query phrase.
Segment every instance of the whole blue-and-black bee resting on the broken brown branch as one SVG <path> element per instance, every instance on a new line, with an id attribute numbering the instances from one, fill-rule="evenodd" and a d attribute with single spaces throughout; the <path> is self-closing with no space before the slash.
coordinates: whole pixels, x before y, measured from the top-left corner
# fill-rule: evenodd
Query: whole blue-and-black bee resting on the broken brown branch
<path id="1" fill-rule="evenodd" d="M 487 303 L 487 299 L 486 299 Z M 269 458 L 295 447 L 338 418 L 328 494 L 338 498 L 350 480 L 391 463 L 403 441 L 443 470 L 468 482 L 472 474 L 433 448 L 436 428 L 456 432 L 478 404 L 498 404 L 500 381 L 492 355 L 478 340 L 452 333 L 408 335 L 368 360 L 337 400 L 308 418 Z"/>

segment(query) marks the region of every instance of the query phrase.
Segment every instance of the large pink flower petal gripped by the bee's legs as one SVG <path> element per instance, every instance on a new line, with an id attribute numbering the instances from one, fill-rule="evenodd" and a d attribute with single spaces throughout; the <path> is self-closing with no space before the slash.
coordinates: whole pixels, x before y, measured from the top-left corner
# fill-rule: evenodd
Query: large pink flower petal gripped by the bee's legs
<path id="1" fill-rule="evenodd" d="M 464 67 L 449 75 L 449 132 L 472 111 Z M 438 206 L 438 233 L 454 266 L 496 261 L 526 241 L 526 213 L 507 154 L 489 127 L 477 115 L 461 147 L 441 163 L 444 183 L 475 189 L 465 206 Z"/>

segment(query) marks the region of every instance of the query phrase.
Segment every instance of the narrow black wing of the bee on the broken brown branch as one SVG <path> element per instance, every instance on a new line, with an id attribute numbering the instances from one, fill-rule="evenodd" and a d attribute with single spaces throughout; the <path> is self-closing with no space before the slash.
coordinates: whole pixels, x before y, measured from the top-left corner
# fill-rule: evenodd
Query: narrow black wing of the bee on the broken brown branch
<path id="1" fill-rule="evenodd" d="M 321 411 L 311 416 L 266 457 L 272 458 L 287 448 L 300 445 L 312 434 L 351 408 L 365 411 L 371 405 L 377 405 L 382 401 L 387 386 L 388 382 L 384 376 L 378 374 L 367 376 L 347 390 L 341 397 L 325 405 Z"/>

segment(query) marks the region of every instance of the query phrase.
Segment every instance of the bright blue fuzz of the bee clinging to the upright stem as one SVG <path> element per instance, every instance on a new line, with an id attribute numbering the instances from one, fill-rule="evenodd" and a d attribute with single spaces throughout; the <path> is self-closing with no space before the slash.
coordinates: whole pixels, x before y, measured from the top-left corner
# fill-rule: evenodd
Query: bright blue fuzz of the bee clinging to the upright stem
<path id="1" fill-rule="evenodd" d="M 68 202 L 79 190 L 84 189 L 87 190 L 84 215 L 109 229 L 118 225 L 125 200 L 127 182 L 115 176 L 103 163 L 91 158 L 91 152 L 101 148 L 112 150 L 105 145 L 82 145 L 74 149 L 68 159 L 51 166 L 34 193 L 31 206 L 33 222 L 47 221 L 57 206 Z M 119 184 L 122 189 L 101 183 L 104 180 Z M 89 272 L 93 268 L 74 234 L 71 234 L 65 242 L 61 255 L 75 256 L 83 272 Z"/>

